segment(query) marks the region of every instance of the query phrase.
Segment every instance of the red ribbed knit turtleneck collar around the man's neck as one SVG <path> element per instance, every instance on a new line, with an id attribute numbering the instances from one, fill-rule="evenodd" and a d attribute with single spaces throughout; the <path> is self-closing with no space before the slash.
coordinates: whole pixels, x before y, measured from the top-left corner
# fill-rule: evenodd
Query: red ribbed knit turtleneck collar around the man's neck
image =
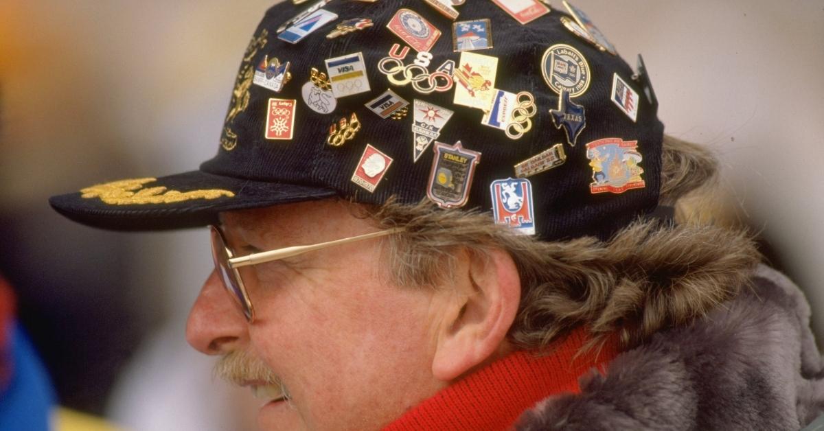
<path id="1" fill-rule="evenodd" d="M 578 377 L 593 367 L 603 371 L 618 354 L 617 343 L 608 342 L 576 356 L 588 340 L 584 330 L 575 330 L 546 356 L 510 354 L 424 400 L 384 431 L 510 429 L 524 410 L 547 396 L 580 391 Z"/>

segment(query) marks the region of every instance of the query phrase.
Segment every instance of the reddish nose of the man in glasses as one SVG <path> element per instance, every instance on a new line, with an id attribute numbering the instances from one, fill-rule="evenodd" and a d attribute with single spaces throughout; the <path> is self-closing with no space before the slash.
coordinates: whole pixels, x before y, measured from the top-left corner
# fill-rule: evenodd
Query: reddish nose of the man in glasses
<path id="1" fill-rule="evenodd" d="M 213 270 L 189 313 L 186 340 L 204 354 L 227 354 L 247 341 L 246 330 L 246 319 Z"/>

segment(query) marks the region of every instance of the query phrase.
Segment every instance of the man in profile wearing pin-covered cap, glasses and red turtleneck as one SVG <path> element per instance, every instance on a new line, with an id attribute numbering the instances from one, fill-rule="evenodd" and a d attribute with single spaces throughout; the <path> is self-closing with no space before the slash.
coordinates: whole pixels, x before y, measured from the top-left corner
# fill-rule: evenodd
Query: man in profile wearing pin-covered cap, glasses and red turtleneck
<path id="1" fill-rule="evenodd" d="M 216 157 L 51 204 L 211 225 L 186 336 L 262 429 L 815 419 L 806 302 L 746 234 L 674 221 L 716 166 L 663 135 L 643 61 L 567 2 L 462 3 L 272 7 Z"/>

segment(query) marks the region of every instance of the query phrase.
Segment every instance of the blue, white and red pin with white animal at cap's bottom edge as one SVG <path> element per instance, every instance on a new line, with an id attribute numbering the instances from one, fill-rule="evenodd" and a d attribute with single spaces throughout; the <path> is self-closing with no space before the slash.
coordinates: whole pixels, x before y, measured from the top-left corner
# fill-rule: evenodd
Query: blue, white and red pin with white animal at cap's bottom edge
<path id="1" fill-rule="evenodd" d="M 489 185 L 495 224 L 503 224 L 524 235 L 535 235 L 532 184 L 526 178 L 494 180 Z"/>

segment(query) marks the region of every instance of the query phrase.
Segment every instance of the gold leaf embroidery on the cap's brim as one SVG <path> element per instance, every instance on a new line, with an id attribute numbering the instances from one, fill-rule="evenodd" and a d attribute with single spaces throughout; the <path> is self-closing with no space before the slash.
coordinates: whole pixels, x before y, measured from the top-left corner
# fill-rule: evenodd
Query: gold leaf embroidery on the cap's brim
<path id="1" fill-rule="evenodd" d="M 235 196 L 229 190 L 208 189 L 190 190 L 181 192 L 178 190 L 167 190 L 166 187 L 149 187 L 143 189 L 143 185 L 157 181 L 157 178 L 136 178 L 130 180 L 112 181 L 110 183 L 92 185 L 80 190 L 83 199 L 100 198 L 105 204 L 110 205 L 135 205 L 135 204 L 176 204 L 192 199 L 218 199 L 221 197 L 232 198 Z"/>

